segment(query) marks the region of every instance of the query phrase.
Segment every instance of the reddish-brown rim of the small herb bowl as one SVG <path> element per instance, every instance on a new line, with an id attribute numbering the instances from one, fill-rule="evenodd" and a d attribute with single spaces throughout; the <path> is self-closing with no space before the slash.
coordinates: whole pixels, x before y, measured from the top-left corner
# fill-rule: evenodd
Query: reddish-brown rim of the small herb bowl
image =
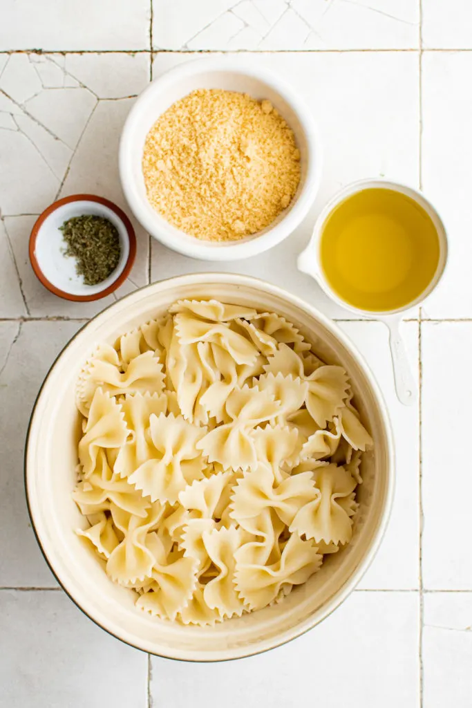
<path id="1" fill-rule="evenodd" d="M 116 280 L 113 280 L 111 285 L 105 287 L 104 290 L 94 292 L 93 295 L 74 295 L 71 292 L 67 292 L 67 290 L 60 290 L 59 287 L 53 285 L 53 283 L 46 278 L 39 264 L 38 258 L 36 258 L 36 239 L 38 239 L 38 234 L 40 232 L 42 224 L 44 224 L 47 217 L 50 217 L 50 215 L 57 209 L 59 209 L 59 207 L 62 207 L 65 204 L 71 204 L 71 202 L 96 202 L 97 204 L 101 204 L 104 207 L 108 207 L 108 209 L 115 212 L 115 214 L 125 227 L 125 231 L 127 233 L 127 239 L 129 242 L 129 253 L 127 261 L 125 263 L 125 267 L 123 268 L 120 275 L 118 275 Z M 117 287 L 120 287 L 120 285 L 122 285 L 122 283 L 125 282 L 125 280 L 127 279 L 133 267 L 134 258 L 136 258 L 136 234 L 134 233 L 134 228 L 129 220 L 129 217 L 127 217 L 125 212 L 120 209 L 120 207 L 118 207 L 114 202 L 110 202 L 109 199 L 105 199 L 105 197 L 98 197 L 94 194 L 73 194 L 70 197 L 63 197 L 62 199 L 58 199 L 57 201 L 52 202 L 49 207 L 47 207 L 43 212 L 41 212 L 38 219 L 36 219 L 35 224 L 33 225 L 33 229 L 31 229 L 28 253 L 30 256 L 31 266 L 34 270 L 36 277 L 38 278 L 38 280 L 40 280 L 40 282 L 42 282 L 42 285 L 44 285 L 47 290 L 50 290 L 50 292 L 52 292 L 54 295 L 62 297 L 65 300 L 72 300 L 74 302 L 92 302 L 93 300 L 99 300 L 102 297 L 106 297 L 112 292 L 115 292 Z"/>

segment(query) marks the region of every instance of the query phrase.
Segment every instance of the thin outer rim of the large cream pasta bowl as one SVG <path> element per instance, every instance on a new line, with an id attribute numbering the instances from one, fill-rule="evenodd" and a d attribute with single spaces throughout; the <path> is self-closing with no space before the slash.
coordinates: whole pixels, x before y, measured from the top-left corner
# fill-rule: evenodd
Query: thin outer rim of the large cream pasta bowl
<path id="1" fill-rule="evenodd" d="M 153 288 L 159 290 L 159 288 L 172 287 L 173 285 L 178 287 L 179 285 L 207 284 L 208 273 L 191 273 L 189 275 L 178 275 L 174 276 L 173 278 L 166 278 L 165 280 L 160 280 L 158 282 L 150 283 L 149 285 L 144 285 L 143 287 L 134 290 L 134 292 L 125 295 L 117 302 L 113 302 L 112 304 L 108 305 L 108 307 L 105 307 L 105 309 L 103 309 L 101 312 L 91 317 L 89 321 L 87 321 L 83 326 L 81 326 L 78 331 L 76 331 L 76 333 L 74 333 L 74 335 L 69 339 L 69 341 L 64 345 L 62 350 L 58 353 L 57 357 L 54 359 L 52 365 L 50 366 L 50 369 L 45 375 L 45 379 L 41 384 L 41 387 L 33 404 L 30 420 L 28 422 L 28 430 L 26 434 L 25 450 L 23 456 L 23 481 L 25 486 L 26 506 L 28 508 L 28 515 L 30 518 L 31 527 L 33 529 L 36 541 L 38 542 L 38 546 L 40 547 L 42 556 L 44 557 L 47 566 L 49 566 L 52 575 L 57 580 L 57 583 L 59 583 L 59 586 L 62 588 L 62 590 L 64 590 L 70 600 L 74 603 L 74 605 L 76 605 L 76 607 L 78 607 L 79 610 L 81 610 L 81 612 L 83 612 L 83 614 L 88 617 L 88 619 L 91 619 L 94 624 L 100 627 L 100 629 L 104 629 L 105 632 L 110 634 L 110 636 L 114 636 L 115 639 L 119 639 L 124 644 L 132 646 L 134 649 L 139 649 L 139 651 L 144 651 L 153 656 L 160 656 L 161 658 L 173 659 L 174 661 L 188 661 L 190 663 L 214 663 L 219 661 L 234 661 L 239 658 L 256 656 L 257 654 L 265 653 L 265 651 L 270 651 L 270 649 L 276 649 L 279 646 L 287 644 L 289 641 L 297 639 L 297 637 L 306 634 L 306 632 L 309 632 L 309 630 L 313 629 L 313 627 L 315 627 L 317 624 L 323 622 L 323 619 L 329 617 L 329 615 L 331 615 L 332 612 L 334 612 L 334 610 L 336 610 L 344 602 L 344 600 L 346 600 L 346 598 L 352 593 L 352 591 L 355 590 L 356 586 L 358 585 L 359 581 L 361 581 L 367 569 L 369 569 L 369 566 L 372 564 L 372 561 L 379 550 L 381 541 L 384 538 L 386 532 L 386 528 L 388 527 L 388 521 L 390 520 L 391 516 L 396 478 L 393 431 L 391 428 L 391 420 L 388 414 L 386 402 L 379 388 L 379 384 L 377 384 L 374 374 L 372 373 L 372 370 L 370 369 L 367 362 L 364 360 L 363 355 L 357 350 L 352 341 L 350 341 L 350 338 L 345 335 L 345 333 L 337 326 L 337 324 L 335 324 L 335 322 L 330 320 L 325 314 L 319 312 L 316 307 L 311 306 L 311 304 L 304 301 L 300 297 L 292 295 L 292 293 L 287 292 L 286 290 L 281 287 L 278 287 L 277 285 L 272 285 L 272 283 L 269 283 L 261 278 L 253 278 L 249 275 L 239 275 L 236 273 L 211 273 L 210 275 L 212 276 L 212 278 L 214 278 L 215 282 L 229 282 L 231 285 L 236 286 L 247 285 L 252 287 L 259 287 L 259 289 L 263 289 L 266 292 L 269 292 L 271 295 L 276 295 L 282 297 L 283 299 L 287 299 L 291 304 L 294 304 L 296 307 L 299 307 L 300 309 L 304 310 L 310 316 L 313 316 L 315 319 L 318 319 L 321 324 L 323 324 L 323 326 L 326 326 L 326 328 L 330 330 L 331 333 L 333 333 L 340 340 L 340 343 L 342 343 L 342 345 L 347 348 L 350 355 L 352 355 L 352 357 L 357 360 L 357 363 L 362 368 L 364 375 L 367 377 L 369 386 L 372 387 L 372 392 L 374 393 L 374 397 L 377 401 L 377 404 L 379 405 L 379 411 L 381 413 L 381 418 L 384 423 L 385 444 L 387 450 L 386 495 L 384 498 L 384 508 L 381 512 L 379 523 L 371 539 L 369 549 L 367 550 L 367 553 L 364 554 L 362 560 L 359 562 L 359 565 L 357 566 L 355 571 L 353 571 L 350 578 L 348 578 L 347 581 L 345 581 L 345 583 L 343 583 L 343 585 L 340 586 L 340 588 L 338 588 L 338 590 L 336 590 L 333 595 L 331 595 L 331 597 L 326 601 L 326 603 L 321 606 L 320 610 L 318 610 L 318 616 L 310 617 L 309 620 L 304 622 L 304 624 L 297 624 L 289 632 L 285 633 L 288 636 L 286 636 L 286 638 L 282 641 L 271 641 L 270 646 L 264 646 L 263 648 L 256 649 L 255 651 L 248 651 L 248 653 L 237 653 L 236 656 L 228 656 L 225 658 L 189 658 L 183 656 L 175 656 L 175 654 L 173 653 L 158 653 L 157 651 L 153 651 L 150 648 L 144 648 L 143 646 L 139 646 L 139 644 L 134 644 L 134 642 L 129 641 L 129 639 L 125 639 L 123 636 L 120 636 L 119 632 L 113 631 L 108 626 L 105 626 L 107 623 L 103 620 L 103 618 L 98 619 L 97 617 L 93 616 L 93 613 L 87 612 L 87 610 L 82 607 L 80 600 L 74 596 L 72 591 L 66 587 L 65 583 L 58 576 L 57 572 L 54 569 L 54 565 L 47 554 L 45 544 L 43 545 L 43 542 L 40 539 L 40 532 L 38 531 L 38 528 L 35 525 L 33 503 L 30 498 L 30 490 L 28 484 L 28 479 L 30 479 L 30 476 L 32 476 L 32 473 L 30 472 L 30 467 L 33 467 L 33 465 L 31 464 L 32 461 L 30 462 L 30 460 L 28 459 L 28 450 L 30 437 L 34 432 L 35 427 L 35 413 L 38 409 L 38 405 L 40 403 L 40 400 L 42 399 L 42 396 L 47 395 L 47 386 L 50 380 L 50 375 L 52 374 L 54 367 L 57 365 L 57 362 L 59 362 L 59 359 L 62 358 L 62 356 L 67 352 L 67 349 L 69 348 L 69 346 L 71 346 L 71 343 L 73 343 L 75 339 L 85 329 L 87 329 L 88 326 L 91 326 L 94 321 L 96 321 L 102 316 L 105 317 L 107 313 L 108 316 L 110 316 L 109 311 L 113 311 L 113 308 L 117 308 L 123 301 L 135 297 L 137 293 L 140 292 L 152 290 Z"/>

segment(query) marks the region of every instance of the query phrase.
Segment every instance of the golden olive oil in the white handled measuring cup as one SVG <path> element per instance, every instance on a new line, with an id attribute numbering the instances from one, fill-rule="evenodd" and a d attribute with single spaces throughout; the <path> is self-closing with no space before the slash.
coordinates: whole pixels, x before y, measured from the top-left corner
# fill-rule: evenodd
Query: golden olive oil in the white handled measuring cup
<path id="1" fill-rule="evenodd" d="M 338 297 L 352 307 L 385 312 L 405 307 L 430 284 L 439 238 L 415 200 L 387 188 L 365 189 L 326 219 L 320 258 Z"/>

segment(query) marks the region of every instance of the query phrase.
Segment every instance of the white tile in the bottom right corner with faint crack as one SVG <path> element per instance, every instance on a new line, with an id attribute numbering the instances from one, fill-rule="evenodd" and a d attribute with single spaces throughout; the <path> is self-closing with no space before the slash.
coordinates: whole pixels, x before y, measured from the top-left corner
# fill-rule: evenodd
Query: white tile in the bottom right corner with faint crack
<path id="1" fill-rule="evenodd" d="M 469 708 L 472 701 L 472 593 L 425 596 L 424 704 Z"/>

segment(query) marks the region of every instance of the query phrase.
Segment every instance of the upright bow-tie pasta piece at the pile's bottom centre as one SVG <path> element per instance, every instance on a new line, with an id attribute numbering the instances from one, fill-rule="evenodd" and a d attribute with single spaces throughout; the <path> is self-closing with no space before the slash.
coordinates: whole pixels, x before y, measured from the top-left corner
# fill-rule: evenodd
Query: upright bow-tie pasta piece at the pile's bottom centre
<path id="1" fill-rule="evenodd" d="M 244 539 L 243 530 L 236 526 L 203 534 L 207 554 L 218 570 L 217 576 L 205 585 L 203 597 L 208 607 L 217 610 L 221 617 L 241 617 L 244 610 L 234 586 L 235 554 Z"/>

